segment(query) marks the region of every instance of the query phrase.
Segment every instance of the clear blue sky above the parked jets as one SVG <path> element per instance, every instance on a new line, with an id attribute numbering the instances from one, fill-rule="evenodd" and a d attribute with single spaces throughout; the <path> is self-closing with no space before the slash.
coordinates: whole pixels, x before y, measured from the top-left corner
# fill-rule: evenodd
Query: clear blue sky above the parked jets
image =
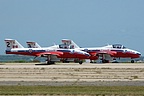
<path id="1" fill-rule="evenodd" d="M 144 55 L 144 0 L 0 0 L 4 39 L 41 46 L 72 39 L 81 47 L 122 44 Z"/>

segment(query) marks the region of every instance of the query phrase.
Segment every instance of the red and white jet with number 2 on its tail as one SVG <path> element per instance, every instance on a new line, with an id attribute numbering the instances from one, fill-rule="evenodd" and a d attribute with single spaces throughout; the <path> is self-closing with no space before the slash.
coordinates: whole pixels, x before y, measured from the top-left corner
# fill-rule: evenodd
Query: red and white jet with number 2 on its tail
<path id="1" fill-rule="evenodd" d="M 5 39 L 6 43 L 6 54 L 17 54 L 17 55 L 29 55 L 46 57 L 47 64 L 51 62 L 51 56 L 57 56 L 57 58 L 78 58 L 79 64 L 82 64 L 82 59 L 88 59 L 90 54 L 77 49 L 53 49 L 51 47 L 45 48 L 24 48 L 17 40 Z"/>

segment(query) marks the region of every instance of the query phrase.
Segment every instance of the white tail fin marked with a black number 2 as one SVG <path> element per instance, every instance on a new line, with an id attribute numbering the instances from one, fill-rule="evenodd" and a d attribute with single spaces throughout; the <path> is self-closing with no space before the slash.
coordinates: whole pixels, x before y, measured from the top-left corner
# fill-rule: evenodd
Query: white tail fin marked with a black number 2
<path id="1" fill-rule="evenodd" d="M 5 39 L 6 49 L 24 48 L 17 40 Z"/>

